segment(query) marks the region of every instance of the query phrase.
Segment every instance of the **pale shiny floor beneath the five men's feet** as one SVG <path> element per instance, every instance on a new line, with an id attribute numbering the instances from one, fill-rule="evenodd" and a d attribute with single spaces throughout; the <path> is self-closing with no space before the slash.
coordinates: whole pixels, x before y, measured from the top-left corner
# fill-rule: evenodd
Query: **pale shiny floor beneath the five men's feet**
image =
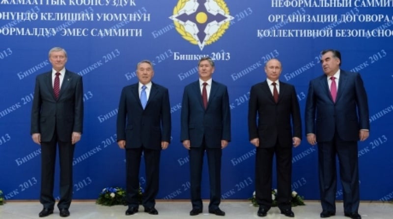
<path id="1" fill-rule="evenodd" d="M 292 208 L 295 219 L 319 219 L 321 206 L 318 201 L 306 201 L 306 206 Z M 207 212 L 207 202 L 204 202 L 203 213 L 190 216 L 191 204 L 187 200 L 162 201 L 157 200 L 156 209 L 159 215 L 153 216 L 143 212 L 140 206 L 139 213 L 126 216 L 126 206 L 101 206 L 95 204 L 94 200 L 74 200 L 70 207 L 69 219 L 256 219 L 258 208 L 253 207 L 246 200 L 225 200 L 221 203 L 221 210 L 225 211 L 225 217 L 220 217 Z M 8 201 L 0 206 L 0 219 L 38 219 L 38 213 L 42 206 L 38 201 Z M 392 219 L 393 203 L 362 202 L 359 214 L 363 219 Z M 46 219 L 60 219 L 58 210 Z M 265 219 L 289 219 L 280 214 L 278 208 L 272 208 Z M 342 202 L 337 203 L 336 216 L 331 219 L 348 219 L 344 217 Z"/>

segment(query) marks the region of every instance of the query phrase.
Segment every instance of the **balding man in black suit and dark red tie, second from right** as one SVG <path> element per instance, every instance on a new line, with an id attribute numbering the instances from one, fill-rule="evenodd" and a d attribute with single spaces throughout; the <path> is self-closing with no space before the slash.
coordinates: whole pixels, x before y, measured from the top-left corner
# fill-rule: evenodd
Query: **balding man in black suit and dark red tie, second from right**
<path id="1" fill-rule="evenodd" d="M 281 214 L 294 217 L 290 203 L 292 145 L 300 145 L 302 123 L 295 87 L 279 81 L 281 71 L 279 60 L 269 60 L 265 65 L 266 81 L 255 84 L 250 92 L 248 125 L 250 142 L 256 147 L 255 198 L 259 204 L 259 217 L 265 217 L 272 206 L 274 155 L 277 204 Z"/>

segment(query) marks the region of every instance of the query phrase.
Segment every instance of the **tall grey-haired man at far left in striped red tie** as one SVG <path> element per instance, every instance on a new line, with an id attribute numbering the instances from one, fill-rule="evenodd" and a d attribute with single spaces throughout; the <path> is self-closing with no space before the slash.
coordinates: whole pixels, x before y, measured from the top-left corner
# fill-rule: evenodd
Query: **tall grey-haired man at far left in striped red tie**
<path id="1" fill-rule="evenodd" d="M 68 217 L 72 199 L 72 161 L 75 144 L 81 139 L 83 126 L 82 77 L 65 69 L 67 53 L 60 47 L 49 51 L 52 70 L 36 77 L 31 109 L 31 136 L 41 145 L 41 194 L 44 206 L 39 217 L 53 213 L 55 206 L 54 174 L 56 145 L 60 163 L 61 217 Z"/>

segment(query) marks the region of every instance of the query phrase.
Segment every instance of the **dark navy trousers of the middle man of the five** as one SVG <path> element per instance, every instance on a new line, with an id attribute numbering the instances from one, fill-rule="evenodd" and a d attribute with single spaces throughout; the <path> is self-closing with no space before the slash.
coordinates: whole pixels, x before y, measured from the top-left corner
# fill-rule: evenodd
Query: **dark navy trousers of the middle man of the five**
<path id="1" fill-rule="evenodd" d="M 191 147 L 190 175 L 191 175 L 191 203 L 193 209 L 203 209 L 201 199 L 201 180 L 203 156 L 206 151 L 209 167 L 210 203 L 209 210 L 215 210 L 221 203 L 221 148 L 208 148 L 203 141 L 201 147 Z"/>

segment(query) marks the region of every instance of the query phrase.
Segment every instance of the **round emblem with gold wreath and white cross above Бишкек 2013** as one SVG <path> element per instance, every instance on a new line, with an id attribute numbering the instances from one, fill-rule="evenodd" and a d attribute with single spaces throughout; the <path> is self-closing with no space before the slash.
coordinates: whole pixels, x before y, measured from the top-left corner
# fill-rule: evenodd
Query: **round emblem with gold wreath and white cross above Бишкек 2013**
<path id="1" fill-rule="evenodd" d="M 176 31 L 200 50 L 220 39 L 233 19 L 224 0 L 179 0 L 169 18 Z"/>

